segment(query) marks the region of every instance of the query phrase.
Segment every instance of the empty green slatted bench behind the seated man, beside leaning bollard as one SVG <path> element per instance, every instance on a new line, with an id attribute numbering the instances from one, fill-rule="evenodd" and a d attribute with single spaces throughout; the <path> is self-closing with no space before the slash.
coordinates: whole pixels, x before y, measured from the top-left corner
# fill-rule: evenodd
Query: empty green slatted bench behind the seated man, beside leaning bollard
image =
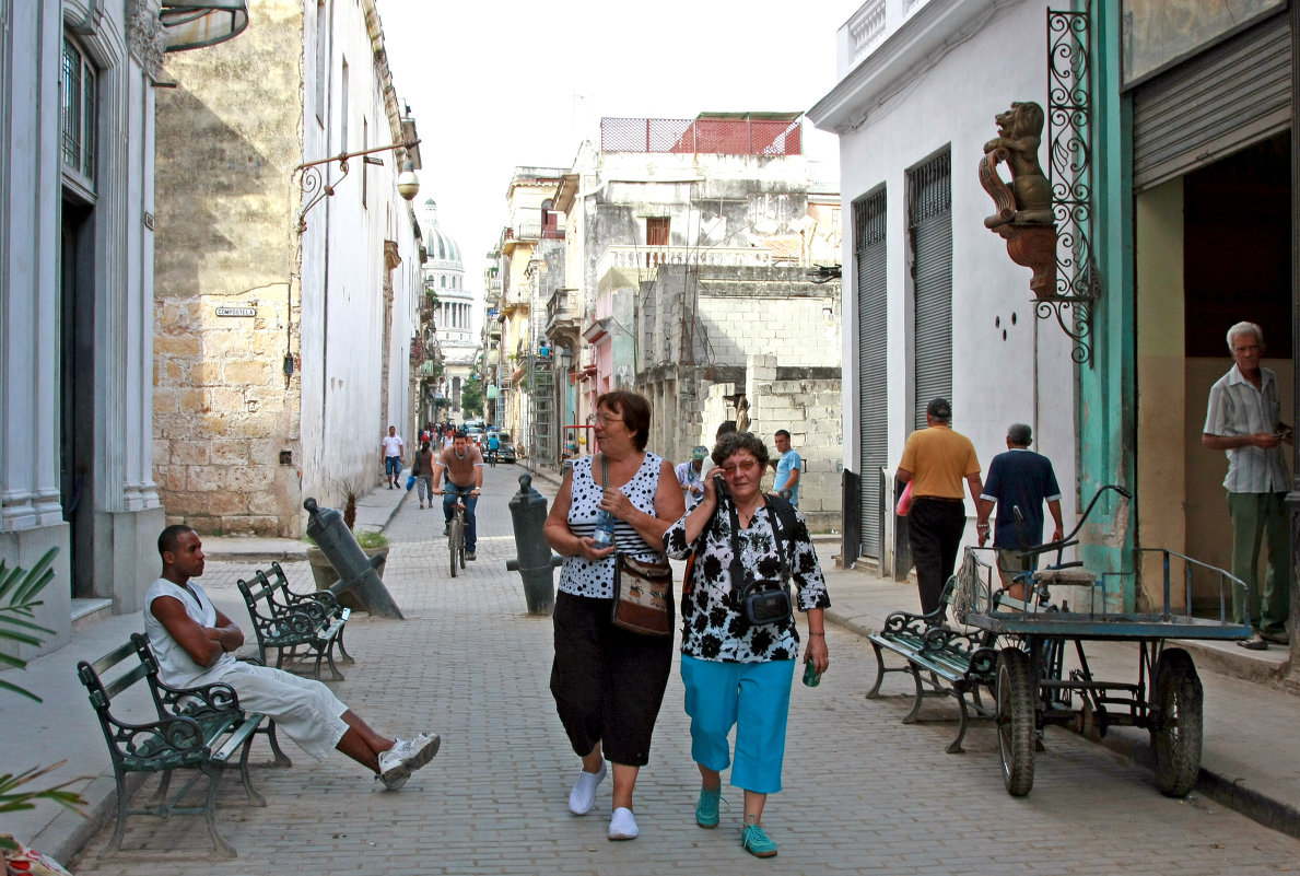
<path id="1" fill-rule="evenodd" d="M 321 677 L 321 662 L 329 664 L 332 678 L 342 681 L 343 673 L 334 663 L 334 649 L 344 663 L 354 663 L 343 647 L 343 626 L 352 615 L 351 608 L 342 608 L 334 594 L 320 590 L 299 594 L 289 589 L 280 563 L 272 564 L 272 574 L 261 569 L 254 573 L 252 582 L 239 578 L 239 593 L 243 594 L 257 637 L 257 654 L 268 663 L 266 652 L 276 651 L 276 668 L 285 668 L 290 662 L 315 658 L 313 677 Z"/>

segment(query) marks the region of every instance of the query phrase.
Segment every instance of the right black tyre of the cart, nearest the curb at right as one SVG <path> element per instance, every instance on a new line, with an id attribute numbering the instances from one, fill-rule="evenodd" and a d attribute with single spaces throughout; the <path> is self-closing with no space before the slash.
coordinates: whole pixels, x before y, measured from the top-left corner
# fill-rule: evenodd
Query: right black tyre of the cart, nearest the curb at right
<path id="1" fill-rule="evenodd" d="M 1166 649 L 1156 660 L 1150 746 L 1156 780 L 1166 797 L 1186 797 L 1201 771 L 1201 706 L 1205 691 L 1192 658 Z"/>

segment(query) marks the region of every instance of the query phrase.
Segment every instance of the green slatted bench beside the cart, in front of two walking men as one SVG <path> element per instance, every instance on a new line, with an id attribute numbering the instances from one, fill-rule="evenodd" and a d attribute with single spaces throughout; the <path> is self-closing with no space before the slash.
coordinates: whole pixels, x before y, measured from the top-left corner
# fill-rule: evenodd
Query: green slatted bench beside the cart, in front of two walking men
<path id="1" fill-rule="evenodd" d="M 997 717 L 996 707 L 985 706 L 980 688 L 992 689 L 997 673 L 996 637 L 982 630 L 965 633 L 946 626 L 948 610 L 953 604 L 956 581 L 944 587 L 939 608 L 928 615 L 896 611 L 885 619 L 879 633 L 867 637 L 876 654 L 876 682 L 867 691 L 867 699 L 880 695 L 880 684 L 889 672 L 907 672 L 915 684 L 911 711 L 904 724 L 913 724 L 927 697 L 952 697 L 961 708 L 957 738 L 948 745 L 949 754 L 962 751 L 962 740 L 970 712 L 980 717 Z M 904 658 L 901 667 L 887 667 L 884 651 Z"/>

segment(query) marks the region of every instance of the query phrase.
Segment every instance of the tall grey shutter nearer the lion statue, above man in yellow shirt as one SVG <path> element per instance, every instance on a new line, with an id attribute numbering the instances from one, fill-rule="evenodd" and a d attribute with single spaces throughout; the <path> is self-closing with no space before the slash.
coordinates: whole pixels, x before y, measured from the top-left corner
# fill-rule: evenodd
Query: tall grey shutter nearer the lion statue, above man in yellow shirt
<path id="1" fill-rule="evenodd" d="M 914 421 L 926 428 L 926 406 L 953 398 L 953 190 L 949 153 L 907 174 L 911 239 Z"/>

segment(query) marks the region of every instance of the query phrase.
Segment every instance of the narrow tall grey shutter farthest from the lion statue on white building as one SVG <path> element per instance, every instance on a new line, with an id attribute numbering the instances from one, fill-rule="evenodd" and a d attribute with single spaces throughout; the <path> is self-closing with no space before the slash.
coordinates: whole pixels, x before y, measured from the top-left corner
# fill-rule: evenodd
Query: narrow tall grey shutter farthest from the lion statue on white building
<path id="1" fill-rule="evenodd" d="M 884 496 L 880 467 L 888 464 L 889 329 L 885 287 L 885 190 L 853 205 L 854 248 L 858 263 L 858 435 L 862 476 L 862 552 L 880 559 Z"/>

